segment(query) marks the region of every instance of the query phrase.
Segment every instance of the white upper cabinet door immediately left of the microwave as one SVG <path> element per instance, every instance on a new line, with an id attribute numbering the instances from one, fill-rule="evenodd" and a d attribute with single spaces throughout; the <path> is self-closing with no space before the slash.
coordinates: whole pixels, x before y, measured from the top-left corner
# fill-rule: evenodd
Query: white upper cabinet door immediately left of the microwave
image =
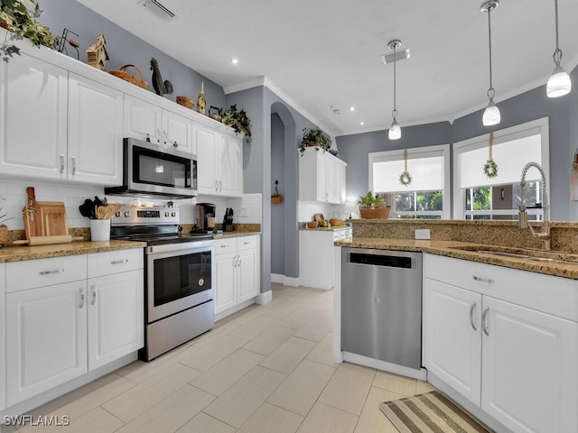
<path id="1" fill-rule="evenodd" d="M 123 94 L 70 73 L 68 177 L 98 185 L 122 180 Z"/>

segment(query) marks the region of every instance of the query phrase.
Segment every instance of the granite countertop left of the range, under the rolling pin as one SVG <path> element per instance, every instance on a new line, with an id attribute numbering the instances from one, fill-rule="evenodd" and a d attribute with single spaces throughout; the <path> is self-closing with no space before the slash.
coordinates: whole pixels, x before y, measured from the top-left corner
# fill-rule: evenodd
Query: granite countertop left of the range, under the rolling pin
<path id="1" fill-rule="evenodd" d="M 130 248 L 144 248 L 145 246 L 146 244 L 144 242 L 116 240 L 101 242 L 81 241 L 72 242 L 70 244 L 37 246 L 5 246 L 0 249 L 0 263 L 45 259 L 48 257 L 60 257 L 63 255 L 102 253 L 105 251 L 126 250 Z"/>

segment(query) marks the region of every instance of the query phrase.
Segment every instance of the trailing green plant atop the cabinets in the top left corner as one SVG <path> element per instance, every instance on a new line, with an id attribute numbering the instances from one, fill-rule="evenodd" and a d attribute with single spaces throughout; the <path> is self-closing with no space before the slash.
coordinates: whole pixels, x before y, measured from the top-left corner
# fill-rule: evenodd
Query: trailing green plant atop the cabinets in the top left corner
<path id="1" fill-rule="evenodd" d="M 50 29 L 41 23 L 38 18 L 42 14 L 40 5 L 35 0 L 0 0 L 0 26 L 12 33 L 11 39 L 30 40 L 33 45 L 52 48 L 54 38 Z M 8 61 L 13 54 L 20 55 L 20 50 L 13 44 L 5 41 L 0 45 L 2 60 Z"/>

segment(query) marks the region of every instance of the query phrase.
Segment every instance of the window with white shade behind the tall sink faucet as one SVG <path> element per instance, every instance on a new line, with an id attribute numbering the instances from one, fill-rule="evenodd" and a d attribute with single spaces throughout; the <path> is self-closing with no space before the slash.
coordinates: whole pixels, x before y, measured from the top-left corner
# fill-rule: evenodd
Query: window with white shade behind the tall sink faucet
<path id="1" fill-rule="evenodd" d="M 494 133 L 492 159 L 498 175 L 488 178 L 489 134 L 453 144 L 453 217 L 457 219 L 517 219 L 522 204 L 520 180 L 527 162 L 535 161 L 549 185 L 548 119 L 538 119 Z M 527 171 L 524 201 L 542 203 L 542 180 L 538 170 Z M 528 209 L 528 219 L 542 219 L 541 209 Z"/>

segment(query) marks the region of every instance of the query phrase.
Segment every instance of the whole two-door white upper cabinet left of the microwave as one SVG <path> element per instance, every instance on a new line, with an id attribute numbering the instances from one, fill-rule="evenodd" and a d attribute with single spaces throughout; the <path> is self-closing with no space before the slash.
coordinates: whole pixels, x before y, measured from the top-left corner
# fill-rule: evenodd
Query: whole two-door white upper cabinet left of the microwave
<path id="1" fill-rule="evenodd" d="M 25 54 L 1 70 L 1 173 L 120 183 L 121 92 Z"/>

